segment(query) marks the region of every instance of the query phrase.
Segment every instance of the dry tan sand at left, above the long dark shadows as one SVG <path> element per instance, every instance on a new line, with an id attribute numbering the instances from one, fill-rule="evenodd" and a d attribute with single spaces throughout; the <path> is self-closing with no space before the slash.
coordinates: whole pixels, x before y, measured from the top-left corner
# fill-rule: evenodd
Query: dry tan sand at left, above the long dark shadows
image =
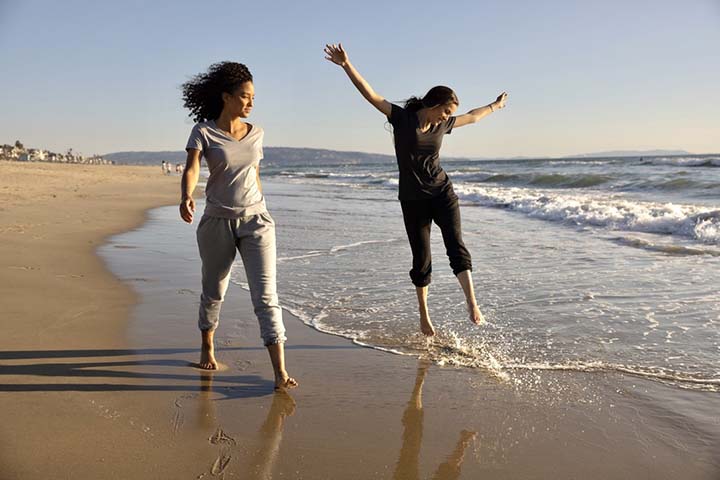
<path id="1" fill-rule="evenodd" d="M 4 342 L 35 349 L 125 345 L 130 288 L 95 255 L 175 203 L 179 177 L 160 168 L 0 162 Z"/>

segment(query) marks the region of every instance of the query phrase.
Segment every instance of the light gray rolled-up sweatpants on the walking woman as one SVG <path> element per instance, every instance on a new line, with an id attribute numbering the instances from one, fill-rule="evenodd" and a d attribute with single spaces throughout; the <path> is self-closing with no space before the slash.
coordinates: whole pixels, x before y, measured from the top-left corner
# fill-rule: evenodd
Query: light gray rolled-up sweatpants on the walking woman
<path id="1" fill-rule="evenodd" d="M 198 225 L 197 241 L 202 259 L 200 330 L 217 328 L 230 270 L 236 251 L 240 251 L 260 336 L 266 346 L 284 342 L 275 276 L 275 222 L 270 214 L 234 219 L 204 215 Z"/>

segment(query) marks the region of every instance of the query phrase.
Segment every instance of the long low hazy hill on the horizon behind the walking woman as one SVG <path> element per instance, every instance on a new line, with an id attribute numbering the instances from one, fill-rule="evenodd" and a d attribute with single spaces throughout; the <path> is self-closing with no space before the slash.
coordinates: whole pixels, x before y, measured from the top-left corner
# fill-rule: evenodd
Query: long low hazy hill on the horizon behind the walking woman
<path id="1" fill-rule="evenodd" d="M 368 163 L 394 163 L 395 156 L 378 153 L 343 152 L 320 148 L 264 147 L 264 162 L 272 165 L 291 166 L 312 163 L 313 165 L 352 165 Z M 170 163 L 185 163 L 186 153 L 182 150 L 169 152 L 116 152 L 103 155 L 107 160 L 122 165 L 160 165 L 163 160 Z"/>

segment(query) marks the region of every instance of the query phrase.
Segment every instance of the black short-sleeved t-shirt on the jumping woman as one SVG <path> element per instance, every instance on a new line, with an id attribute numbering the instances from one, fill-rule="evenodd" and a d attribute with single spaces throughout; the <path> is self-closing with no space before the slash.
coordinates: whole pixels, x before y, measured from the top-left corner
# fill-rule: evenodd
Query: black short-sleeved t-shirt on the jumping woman
<path id="1" fill-rule="evenodd" d="M 390 123 L 395 136 L 395 156 L 400 171 L 400 200 L 425 200 L 454 195 L 452 183 L 440 166 L 443 136 L 452 132 L 455 117 L 420 131 L 417 113 L 392 106 Z"/>

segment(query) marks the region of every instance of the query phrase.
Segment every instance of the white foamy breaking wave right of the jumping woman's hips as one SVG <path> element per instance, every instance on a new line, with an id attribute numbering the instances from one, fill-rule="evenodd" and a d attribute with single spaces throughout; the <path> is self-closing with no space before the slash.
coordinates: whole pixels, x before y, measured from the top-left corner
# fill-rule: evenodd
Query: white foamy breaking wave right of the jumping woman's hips
<path id="1" fill-rule="evenodd" d="M 462 200 L 508 208 L 534 218 L 610 230 L 679 235 L 720 245 L 720 210 L 707 207 L 528 188 L 456 185 L 455 191 Z"/>

